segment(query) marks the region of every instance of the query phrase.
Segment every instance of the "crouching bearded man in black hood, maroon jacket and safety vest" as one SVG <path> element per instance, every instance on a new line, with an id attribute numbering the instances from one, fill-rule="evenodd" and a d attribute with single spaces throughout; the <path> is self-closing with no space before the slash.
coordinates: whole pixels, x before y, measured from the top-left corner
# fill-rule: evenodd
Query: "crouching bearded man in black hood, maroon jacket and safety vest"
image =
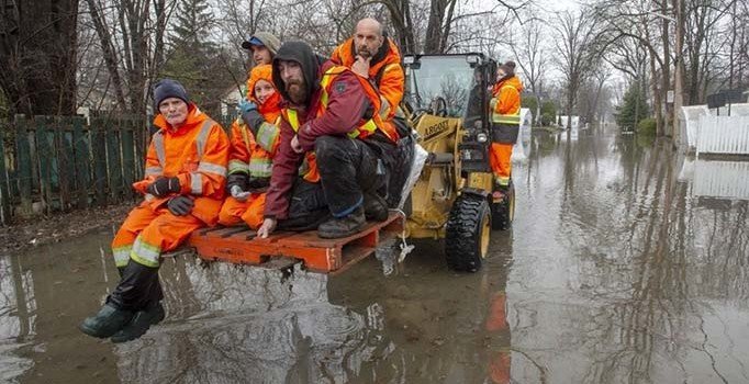
<path id="1" fill-rule="evenodd" d="M 323 238 L 357 233 L 366 223 L 365 211 L 387 219 L 382 202 L 371 200 L 369 210 L 364 206 L 365 195 L 384 185 L 380 156 L 392 151 L 398 139 L 377 113 L 380 97 L 371 83 L 332 61 L 321 66 L 302 42 L 281 46 L 273 59 L 273 83 L 288 108 L 282 112 L 280 147 L 258 236 L 267 237 L 279 221 L 294 218 L 295 205 L 302 201 L 312 202 L 305 211 L 322 207 L 332 216 L 317 226 Z M 300 171 L 303 159 L 311 156 L 316 167 L 308 161 Z"/>

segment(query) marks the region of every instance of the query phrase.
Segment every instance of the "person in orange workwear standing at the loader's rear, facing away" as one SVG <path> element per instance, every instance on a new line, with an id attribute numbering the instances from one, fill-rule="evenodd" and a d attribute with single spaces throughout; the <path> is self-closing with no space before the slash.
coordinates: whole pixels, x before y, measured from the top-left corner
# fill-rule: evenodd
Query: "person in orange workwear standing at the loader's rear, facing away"
<path id="1" fill-rule="evenodd" d="M 496 70 L 496 83 L 489 103 L 492 112 L 490 163 L 500 191 L 510 185 L 513 145 L 521 127 L 521 92 L 523 84 L 515 76 L 515 63 L 507 61 Z M 495 196 L 496 197 L 496 196 Z"/>

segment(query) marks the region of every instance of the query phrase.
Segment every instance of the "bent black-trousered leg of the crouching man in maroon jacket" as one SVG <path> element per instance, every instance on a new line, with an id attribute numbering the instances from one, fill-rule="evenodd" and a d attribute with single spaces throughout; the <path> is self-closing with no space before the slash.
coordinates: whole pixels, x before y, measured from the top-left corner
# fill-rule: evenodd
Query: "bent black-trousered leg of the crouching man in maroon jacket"
<path id="1" fill-rule="evenodd" d="M 364 193 L 385 184 L 379 147 L 345 136 L 321 136 L 315 156 L 325 202 L 334 217 L 344 217 L 364 203 Z"/>

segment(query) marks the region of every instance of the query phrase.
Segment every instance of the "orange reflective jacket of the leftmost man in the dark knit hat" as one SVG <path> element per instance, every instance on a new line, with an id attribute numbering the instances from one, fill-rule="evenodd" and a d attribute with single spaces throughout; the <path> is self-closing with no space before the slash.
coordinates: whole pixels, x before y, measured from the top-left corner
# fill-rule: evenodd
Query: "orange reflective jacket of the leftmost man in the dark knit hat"
<path id="1" fill-rule="evenodd" d="M 171 127 L 161 114 L 156 115 L 154 125 L 160 129 L 148 146 L 145 178 L 133 183 L 133 189 L 145 195 L 142 205 L 154 211 L 161 207 L 172 196 L 156 197 L 146 189 L 159 177 L 177 177 L 179 194 L 194 197 L 191 214 L 214 225 L 226 185 L 230 147 L 226 133 L 193 103 L 189 103 L 187 120 L 178 128 Z"/>

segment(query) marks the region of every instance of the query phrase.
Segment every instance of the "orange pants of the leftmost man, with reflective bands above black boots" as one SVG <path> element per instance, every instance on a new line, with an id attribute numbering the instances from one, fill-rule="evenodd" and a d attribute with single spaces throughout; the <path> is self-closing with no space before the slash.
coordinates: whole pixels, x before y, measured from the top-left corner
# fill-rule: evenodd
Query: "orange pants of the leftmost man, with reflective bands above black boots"
<path id="1" fill-rule="evenodd" d="M 133 259 L 146 267 L 158 267 L 161 252 L 176 249 L 193 230 L 204 226 L 195 216 L 176 216 L 166 207 L 154 211 L 145 204 L 136 206 L 112 240 L 114 263 L 125 267 Z"/>

